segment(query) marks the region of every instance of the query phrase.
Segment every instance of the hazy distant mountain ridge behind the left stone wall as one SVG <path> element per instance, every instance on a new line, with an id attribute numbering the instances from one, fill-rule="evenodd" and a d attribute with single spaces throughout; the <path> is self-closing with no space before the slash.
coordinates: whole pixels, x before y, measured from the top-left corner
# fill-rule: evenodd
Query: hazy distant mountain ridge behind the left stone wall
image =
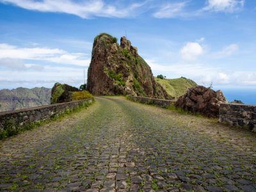
<path id="1" fill-rule="evenodd" d="M 0 90 L 0 111 L 33 108 L 51 104 L 51 89 L 49 88 L 17 88 Z"/>

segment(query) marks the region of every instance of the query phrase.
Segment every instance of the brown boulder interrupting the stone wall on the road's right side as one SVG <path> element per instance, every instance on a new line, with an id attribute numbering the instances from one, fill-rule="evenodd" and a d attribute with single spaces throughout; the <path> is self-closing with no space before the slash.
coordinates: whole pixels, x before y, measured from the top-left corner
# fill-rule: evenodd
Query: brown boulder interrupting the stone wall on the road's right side
<path id="1" fill-rule="evenodd" d="M 189 88 L 185 95 L 179 97 L 175 106 L 193 113 L 217 117 L 220 104 L 223 102 L 227 102 L 227 100 L 221 91 L 215 92 L 211 88 L 196 86 L 195 88 Z"/>

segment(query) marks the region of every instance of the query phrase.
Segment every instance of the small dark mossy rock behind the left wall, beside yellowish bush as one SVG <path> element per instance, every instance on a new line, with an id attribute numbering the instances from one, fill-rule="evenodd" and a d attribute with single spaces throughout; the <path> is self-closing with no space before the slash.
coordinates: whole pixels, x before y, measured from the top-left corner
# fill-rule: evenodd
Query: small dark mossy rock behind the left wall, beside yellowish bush
<path id="1" fill-rule="evenodd" d="M 72 100 L 72 92 L 78 92 L 74 86 L 68 84 L 55 83 L 51 92 L 51 104 L 69 102 Z"/>

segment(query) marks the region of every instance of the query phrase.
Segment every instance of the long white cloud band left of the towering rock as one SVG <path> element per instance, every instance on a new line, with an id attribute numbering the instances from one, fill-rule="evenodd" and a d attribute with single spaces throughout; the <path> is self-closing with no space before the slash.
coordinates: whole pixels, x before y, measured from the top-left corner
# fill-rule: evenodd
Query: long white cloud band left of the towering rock
<path id="1" fill-rule="evenodd" d="M 24 48 L 0 44 L 0 59 L 48 61 L 65 65 L 90 65 L 90 58 L 83 53 L 70 53 L 62 49 L 45 47 Z"/>

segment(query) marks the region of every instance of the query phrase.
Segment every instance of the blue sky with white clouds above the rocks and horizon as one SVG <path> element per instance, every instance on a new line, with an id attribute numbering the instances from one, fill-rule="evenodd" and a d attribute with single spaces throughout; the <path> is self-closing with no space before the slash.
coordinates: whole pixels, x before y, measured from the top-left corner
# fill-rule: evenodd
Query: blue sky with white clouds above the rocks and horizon
<path id="1" fill-rule="evenodd" d="M 0 0 L 0 88 L 79 86 L 102 32 L 126 35 L 155 76 L 256 88 L 253 0 Z"/>

